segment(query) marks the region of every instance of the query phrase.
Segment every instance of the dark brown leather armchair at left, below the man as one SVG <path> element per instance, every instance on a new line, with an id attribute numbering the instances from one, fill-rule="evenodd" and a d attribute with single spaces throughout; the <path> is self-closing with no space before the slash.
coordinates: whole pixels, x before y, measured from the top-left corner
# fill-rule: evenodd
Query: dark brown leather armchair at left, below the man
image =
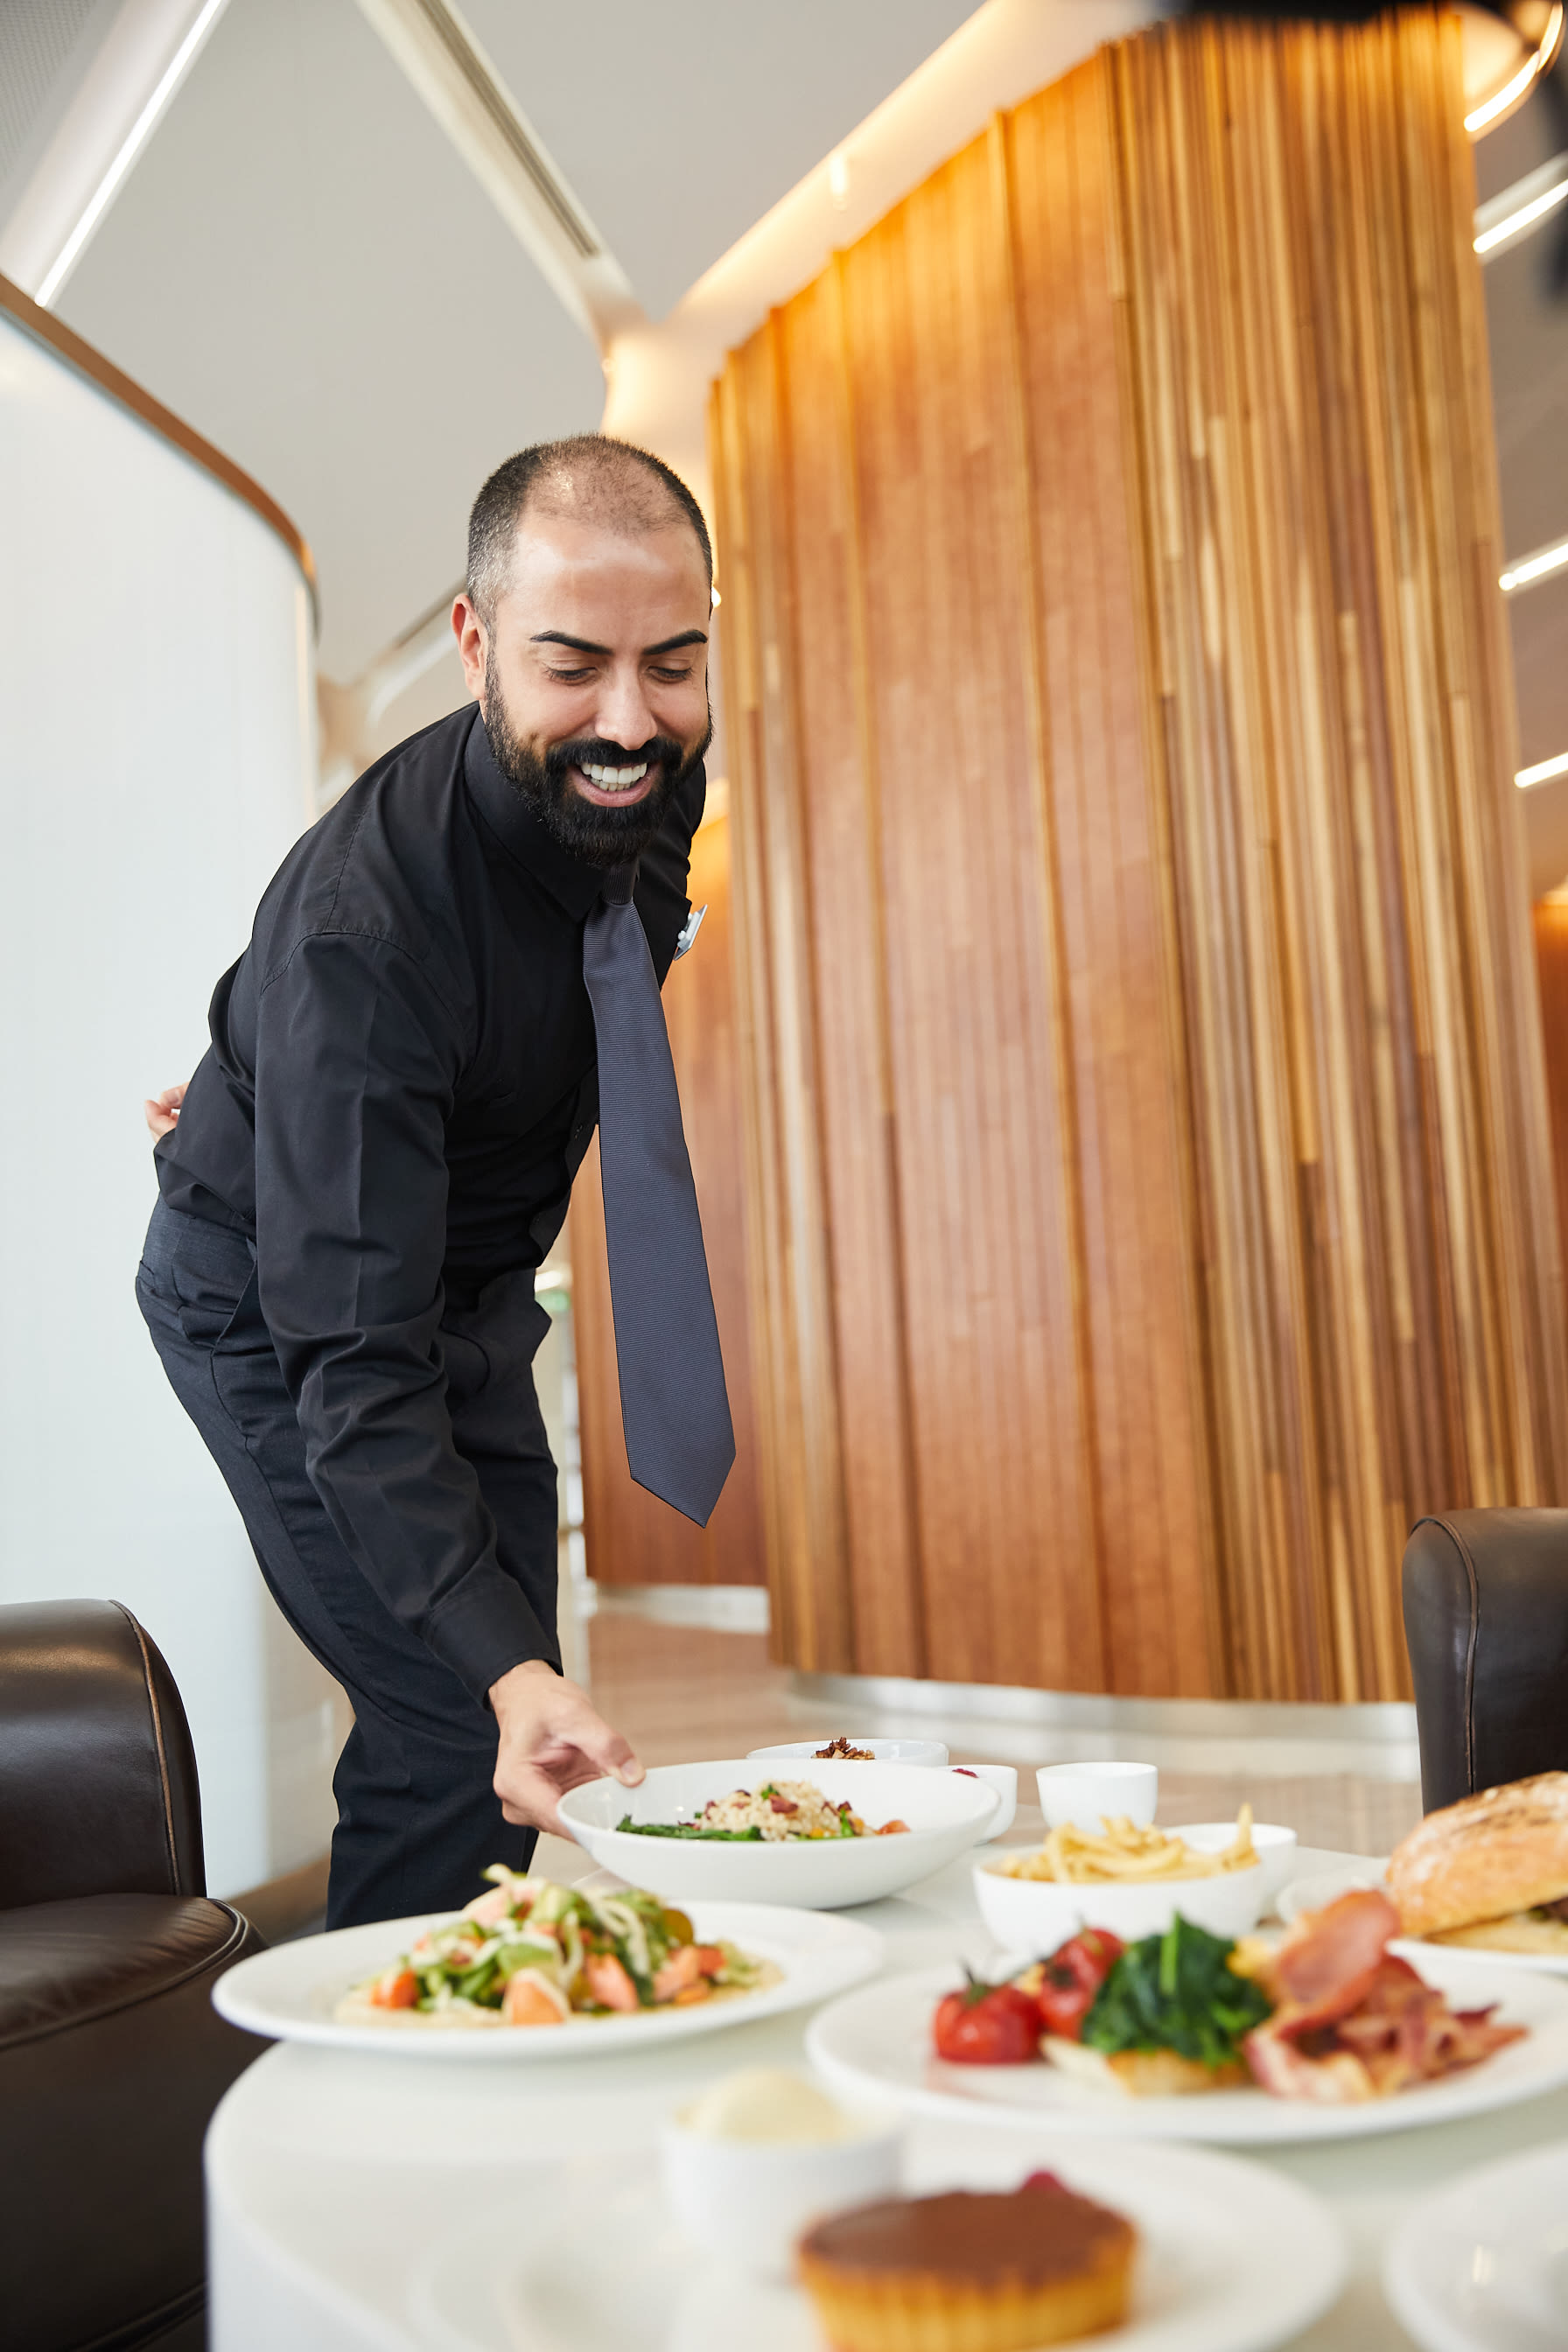
<path id="1" fill-rule="evenodd" d="M 0 1609 L 0 2338 L 200 2352 L 202 2133 L 266 2044 L 214 1978 L 186 1710 L 118 1602 Z"/>

